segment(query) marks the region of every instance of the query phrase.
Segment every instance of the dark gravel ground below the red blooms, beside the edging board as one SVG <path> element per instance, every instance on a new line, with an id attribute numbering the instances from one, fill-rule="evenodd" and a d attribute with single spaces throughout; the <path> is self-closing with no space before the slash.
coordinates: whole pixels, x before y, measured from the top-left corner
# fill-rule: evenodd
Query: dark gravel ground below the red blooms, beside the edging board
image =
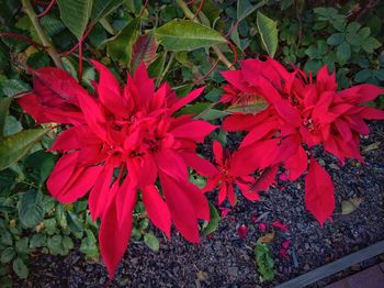
<path id="1" fill-rule="evenodd" d="M 349 160 L 340 167 L 336 158 L 316 152 L 334 179 L 337 199 L 334 222 L 326 222 L 324 228 L 304 208 L 303 179 L 294 184 L 279 180 L 259 202 L 239 197 L 239 203 L 221 221 L 218 230 L 202 237 L 199 245 L 188 243 L 174 231 L 168 243 L 158 233 L 161 239 L 158 253 L 143 243 L 131 243 L 112 283 L 102 264 L 88 264 L 79 252 L 74 252 L 66 257 L 36 257 L 30 278 L 19 279 L 15 286 L 273 287 L 384 240 L 384 125 L 372 122 L 370 126 L 372 134 L 362 140 L 364 165 Z M 236 142 L 233 137 L 229 144 Z M 361 206 L 342 215 L 341 201 L 355 197 L 364 198 Z M 273 221 L 289 225 L 286 232 L 275 229 L 275 239 L 270 244 L 276 270 L 271 283 L 260 281 L 253 261 L 255 243 L 264 234 L 255 219 L 262 214 L 262 222 L 270 230 Z M 249 229 L 245 239 L 237 232 L 241 224 Z M 291 242 L 287 258 L 280 255 L 284 240 Z M 354 265 L 313 287 L 323 287 L 379 261 L 383 257 Z"/>

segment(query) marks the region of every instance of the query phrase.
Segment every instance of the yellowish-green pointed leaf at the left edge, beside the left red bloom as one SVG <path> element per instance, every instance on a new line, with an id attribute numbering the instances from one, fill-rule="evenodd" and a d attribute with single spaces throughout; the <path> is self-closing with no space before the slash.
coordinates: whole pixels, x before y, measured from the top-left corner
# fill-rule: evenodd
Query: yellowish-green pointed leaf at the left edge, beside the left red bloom
<path id="1" fill-rule="evenodd" d="M 0 141 L 0 170 L 23 157 L 47 132 L 46 129 L 30 129 L 2 139 Z"/>

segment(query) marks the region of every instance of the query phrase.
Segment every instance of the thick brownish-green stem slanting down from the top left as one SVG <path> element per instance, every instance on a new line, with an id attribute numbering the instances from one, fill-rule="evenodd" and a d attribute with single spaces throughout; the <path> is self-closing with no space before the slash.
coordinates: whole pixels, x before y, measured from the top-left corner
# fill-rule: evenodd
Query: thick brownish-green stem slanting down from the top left
<path id="1" fill-rule="evenodd" d="M 45 46 L 47 48 L 47 53 L 49 54 L 50 58 L 54 60 L 56 67 L 63 69 L 64 66 L 61 63 L 61 58 L 58 55 L 58 53 L 57 53 L 56 48 L 54 47 L 53 43 L 50 42 L 50 40 L 47 37 L 45 32 L 43 31 L 43 27 L 38 22 L 38 16 L 36 15 L 30 0 L 22 0 L 21 2 L 23 4 L 23 9 L 24 9 L 25 13 L 31 19 L 31 22 L 32 22 L 34 29 L 37 32 L 39 40 L 42 41 L 43 46 Z"/>

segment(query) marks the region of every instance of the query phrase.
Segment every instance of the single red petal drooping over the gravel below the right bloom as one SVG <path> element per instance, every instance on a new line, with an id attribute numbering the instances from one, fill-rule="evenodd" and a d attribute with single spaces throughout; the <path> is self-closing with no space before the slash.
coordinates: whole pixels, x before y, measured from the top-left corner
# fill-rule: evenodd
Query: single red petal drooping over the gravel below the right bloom
<path id="1" fill-rule="evenodd" d="M 329 174 L 315 160 L 310 159 L 305 177 L 305 208 L 324 225 L 331 219 L 335 209 L 334 184 Z"/>

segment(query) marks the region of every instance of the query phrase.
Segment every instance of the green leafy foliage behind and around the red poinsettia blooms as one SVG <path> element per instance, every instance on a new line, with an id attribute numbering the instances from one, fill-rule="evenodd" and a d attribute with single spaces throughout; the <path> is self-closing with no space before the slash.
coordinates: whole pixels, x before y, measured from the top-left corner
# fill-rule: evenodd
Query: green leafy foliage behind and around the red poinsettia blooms
<path id="1" fill-rule="evenodd" d="M 148 67 L 157 85 L 169 81 L 178 96 L 185 96 L 194 86 L 205 85 L 204 95 L 179 114 L 219 122 L 218 119 L 239 112 L 256 113 L 266 103 L 227 106 L 217 103 L 223 90 L 219 70 L 235 60 L 229 38 L 239 59 L 268 54 L 286 66 L 304 67 L 315 74 L 327 65 L 336 71 L 339 87 L 371 82 L 384 85 L 384 41 L 382 13 L 377 3 L 370 14 L 359 16 L 352 9 L 359 1 L 341 1 L 335 7 L 317 7 L 303 0 L 281 1 L 149 1 L 124 0 L 58 0 L 52 12 L 39 19 L 42 30 L 53 46 L 61 53 L 69 51 L 83 36 L 82 84 L 93 90 L 94 68 L 87 60 L 95 58 L 108 65 L 120 79 L 134 71 L 140 60 Z M 340 1 L 339 1 L 340 2 Z M 343 4 L 343 2 L 346 4 Z M 32 1 L 33 3 L 33 1 Z M 187 9 L 185 9 L 187 7 Z M 35 12 L 43 9 L 33 3 Z M 42 40 L 20 1 L 4 0 L 0 9 L 1 32 L 21 34 L 36 43 Z M 230 32 L 230 35 L 227 35 Z M 228 63 L 212 47 L 218 48 Z M 381 53 L 380 53 L 381 52 Z M 79 53 L 61 57 L 65 69 L 79 75 Z M 235 63 L 235 66 L 238 64 Z M 86 199 L 61 204 L 53 199 L 45 182 L 57 155 L 44 152 L 57 131 L 36 128 L 13 98 L 31 89 L 27 67 L 54 66 L 45 48 L 36 48 L 18 38 L 0 38 L 0 283 L 11 286 L 11 277 L 27 277 L 31 254 L 67 255 L 80 250 L 90 262 L 99 261 L 98 222 L 93 223 Z M 211 73 L 212 70 L 212 73 Z M 384 107 L 384 97 L 376 103 Z M 225 142 L 226 132 L 214 139 Z M 191 173 L 199 187 L 205 179 Z M 210 234 L 219 223 L 211 206 L 211 222 L 202 231 Z M 133 241 L 142 241 L 153 251 L 159 240 L 151 232 L 140 199 L 133 219 Z M 274 276 L 268 244 L 258 243 L 256 262 L 264 280 Z"/>

